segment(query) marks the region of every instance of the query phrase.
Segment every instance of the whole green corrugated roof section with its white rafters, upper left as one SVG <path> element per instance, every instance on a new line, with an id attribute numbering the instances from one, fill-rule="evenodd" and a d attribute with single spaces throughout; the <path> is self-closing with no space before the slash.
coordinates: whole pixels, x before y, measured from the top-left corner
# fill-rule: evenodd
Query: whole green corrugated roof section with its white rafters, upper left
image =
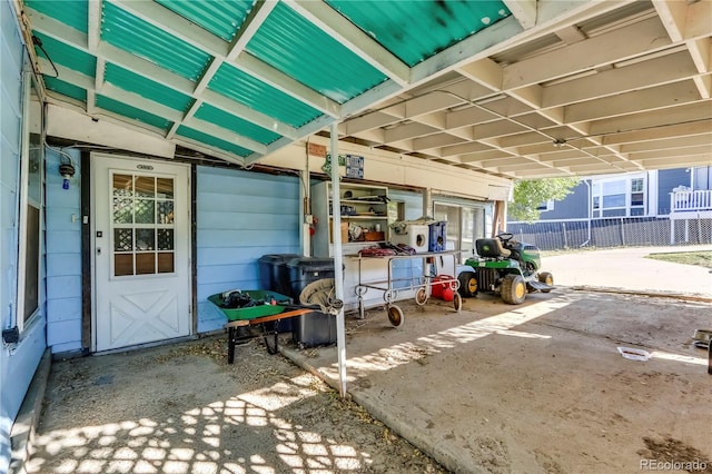
<path id="1" fill-rule="evenodd" d="M 91 79 L 67 75 L 56 80 L 42 63 L 50 90 L 86 101 L 85 88 L 96 82 L 99 56 L 105 65 L 100 78 L 116 89 L 102 93 L 102 85 L 97 85 L 91 90 L 97 106 L 134 125 L 138 121 L 154 131 L 166 130 L 168 139 L 177 128 L 179 136 L 250 160 L 273 151 L 271 145 L 280 147 L 288 139 L 306 137 L 345 117 L 343 113 L 353 115 L 379 98 L 393 97 L 398 89 L 406 90 L 408 70 L 398 58 L 413 66 L 510 14 L 502 1 L 484 0 L 107 0 L 92 3 L 100 9 L 100 21 L 88 26 L 88 1 L 27 2 L 38 24 L 33 33 L 51 60 Z M 484 21 L 485 17 L 492 20 Z M 66 34 L 66 29 L 47 18 L 87 36 Z M 186 28 L 186 20 L 194 26 Z M 353 23 L 344 38 L 355 43 L 334 34 L 345 27 L 339 21 Z M 89 27 L 96 31 L 88 31 Z M 368 36 L 355 34 L 358 29 Z M 236 33 L 245 36 L 233 43 Z M 65 34 L 63 41 L 55 39 Z M 98 48 L 88 45 L 92 37 L 99 38 Z M 377 39 L 378 50 L 369 38 Z M 368 43 L 360 49 L 359 41 Z M 380 49 L 387 53 L 382 55 Z M 142 60 L 152 65 L 145 67 Z M 438 67 L 447 67 L 447 61 L 452 59 Z M 360 99 L 365 92 L 373 93 Z M 357 106 L 340 107 L 353 102 Z M 196 103 L 200 107 L 191 110 Z M 231 105 L 239 105 L 234 113 Z M 182 113 L 178 127 L 172 124 L 180 120 L 180 113 L 159 117 L 166 109 Z M 194 116 L 199 121 L 184 125 Z M 244 148 L 250 141 L 264 147 L 259 152 Z M 238 142 L 243 146 L 235 145 Z"/>

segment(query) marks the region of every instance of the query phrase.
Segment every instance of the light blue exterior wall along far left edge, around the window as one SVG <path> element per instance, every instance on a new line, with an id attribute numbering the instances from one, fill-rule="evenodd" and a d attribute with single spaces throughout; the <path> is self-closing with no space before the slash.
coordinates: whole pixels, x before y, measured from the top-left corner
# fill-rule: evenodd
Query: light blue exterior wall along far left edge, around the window
<path id="1" fill-rule="evenodd" d="M 18 239 L 23 46 L 10 2 L 0 2 L 0 324 L 17 325 Z M 43 276 L 40 274 L 40 278 Z M 20 342 L 0 347 L 0 472 L 10 464 L 10 429 L 46 348 L 43 295 L 40 315 Z"/>

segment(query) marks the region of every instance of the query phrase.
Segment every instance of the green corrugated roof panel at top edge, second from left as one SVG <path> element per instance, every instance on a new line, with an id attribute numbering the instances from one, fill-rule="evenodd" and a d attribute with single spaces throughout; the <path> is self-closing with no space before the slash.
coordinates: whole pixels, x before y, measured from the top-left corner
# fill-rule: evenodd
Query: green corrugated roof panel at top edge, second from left
<path id="1" fill-rule="evenodd" d="M 255 4 L 254 0 L 156 0 L 169 10 L 230 41 Z"/>

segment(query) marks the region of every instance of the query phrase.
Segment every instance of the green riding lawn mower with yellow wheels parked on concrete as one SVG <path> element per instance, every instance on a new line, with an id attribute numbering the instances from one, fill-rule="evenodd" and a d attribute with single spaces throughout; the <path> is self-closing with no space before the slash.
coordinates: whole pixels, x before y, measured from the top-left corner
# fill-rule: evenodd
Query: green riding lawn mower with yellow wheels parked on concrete
<path id="1" fill-rule="evenodd" d="M 527 293 L 548 293 L 554 277 L 541 271 L 538 248 L 514 240 L 514 235 L 502 233 L 495 238 L 475 241 L 477 255 L 457 267 L 459 294 L 464 297 L 477 293 L 500 294 L 504 303 L 521 305 Z"/>

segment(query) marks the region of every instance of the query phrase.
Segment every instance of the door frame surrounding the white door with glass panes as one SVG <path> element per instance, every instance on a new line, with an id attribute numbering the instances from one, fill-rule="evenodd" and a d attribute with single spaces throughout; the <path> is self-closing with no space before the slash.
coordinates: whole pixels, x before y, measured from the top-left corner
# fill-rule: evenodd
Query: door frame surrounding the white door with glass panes
<path id="1" fill-rule="evenodd" d="M 82 325 L 81 325 L 81 346 L 82 353 L 96 353 L 97 352 L 97 297 L 98 297 L 98 284 L 97 284 L 97 261 L 96 261 L 96 251 L 97 251 L 97 240 L 92 238 L 96 235 L 96 223 L 95 223 L 95 213 L 97 211 L 96 205 L 96 194 L 97 182 L 95 182 L 93 174 L 97 160 L 102 158 L 108 159 L 126 159 L 126 160 L 137 160 L 137 157 L 134 157 L 129 154 L 107 154 L 101 151 L 88 151 L 82 152 L 82 186 L 81 186 L 81 199 L 82 199 L 82 244 L 86 249 L 82 254 L 82 269 L 87 271 L 82 271 Z M 187 223 L 185 226 L 185 230 L 188 234 L 188 245 L 187 245 L 187 258 L 188 258 L 188 302 L 189 302 L 189 322 L 188 322 L 188 335 L 178 337 L 180 338 L 192 338 L 197 334 L 197 302 L 195 295 L 195 285 L 196 285 L 196 265 L 194 255 L 196 251 L 196 224 L 195 224 L 195 215 L 196 215 L 196 205 L 195 205 L 195 191 L 196 191 L 196 167 L 192 164 L 180 161 L 180 160 L 164 160 L 164 159 L 147 159 L 140 158 L 140 164 L 150 165 L 151 162 L 157 165 L 174 165 L 174 166 L 184 166 L 187 168 L 187 179 L 188 186 L 186 188 L 186 201 L 187 201 Z M 107 190 L 108 191 L 108 190 Z M 86 203 L 86 205 L 83 204 Z M 150 347 L 164 344 L 171 339 L 164 340 L 155 340 L 150 343 L 137 344 L 135 346 L 127 346 L 116 349 L 102 350 L 102 353 L 111 353 L 111 352 L 122 352 L 128 349 L 135 349 L 140 347 Z"/>

